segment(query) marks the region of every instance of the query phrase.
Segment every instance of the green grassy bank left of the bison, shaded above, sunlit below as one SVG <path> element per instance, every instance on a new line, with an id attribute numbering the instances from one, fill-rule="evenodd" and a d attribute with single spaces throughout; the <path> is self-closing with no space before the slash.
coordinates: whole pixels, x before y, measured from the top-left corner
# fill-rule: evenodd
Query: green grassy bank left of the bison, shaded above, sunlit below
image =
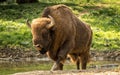
<path id="1" fill-rule="evenodd" d="M 32 9 L 31 6 L 34 6 Z M 0 6 L 0 46 L 32 46 L 30 28 L 26 19 L 38 17 L 41 13 L 38 3 L 31 5 L 1 5 Z M 38 10 L 39 9 L 39 10 Z"/>

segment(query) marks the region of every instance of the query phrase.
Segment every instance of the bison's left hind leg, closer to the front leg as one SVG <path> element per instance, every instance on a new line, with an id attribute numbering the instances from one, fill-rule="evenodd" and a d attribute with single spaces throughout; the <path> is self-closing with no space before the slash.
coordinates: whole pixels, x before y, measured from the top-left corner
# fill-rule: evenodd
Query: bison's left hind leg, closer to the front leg
<path id="1" fill-rule="evenodd" d="M 72 63 L 75 63 L 77 66 L 77 70 L 80 69 L 80 58 L 78 54 L 69 54 L 68 57 L 70 58 Z"/>

